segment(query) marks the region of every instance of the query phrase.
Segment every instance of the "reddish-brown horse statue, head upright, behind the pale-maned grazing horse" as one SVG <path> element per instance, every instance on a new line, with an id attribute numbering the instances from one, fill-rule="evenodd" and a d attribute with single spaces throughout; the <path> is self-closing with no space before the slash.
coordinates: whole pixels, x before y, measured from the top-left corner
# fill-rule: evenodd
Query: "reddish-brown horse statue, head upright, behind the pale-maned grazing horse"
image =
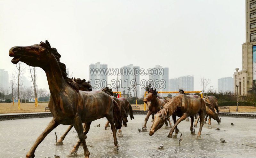
<path id="1" fill-rule="evenodd" d="M 167 101 L 165 99 L 158 99 L 156 89 L 153 90 L 152 88 L 148 90 L 148 94 L 143 99 L 143 101 L 148 104 L 148 114 L 145 118 L 145 123 L 143 125 L 143 128 L 147 128 L 147 122 L 148 122 L 149 116 L 151 114 L 156 114 L 160 110 L 160 107 L 164 106 Z M 172 123 L 170 118 L 168 117 L 166 118 L 166 120 L 168 120 L 171 128 Z M 168 127 L 168 123 L 166 120 L 165 120 L 165 127 Z"/>

